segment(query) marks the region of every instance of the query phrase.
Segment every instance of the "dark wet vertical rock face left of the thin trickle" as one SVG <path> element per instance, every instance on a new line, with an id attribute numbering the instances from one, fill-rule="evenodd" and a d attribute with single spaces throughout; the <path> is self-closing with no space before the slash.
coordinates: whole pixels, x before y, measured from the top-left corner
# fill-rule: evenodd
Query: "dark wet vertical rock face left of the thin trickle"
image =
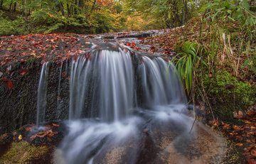
<path id="1" fill-rule="evenodd" d="M 28 70 L 25 75 L 20 74 L 23 70 L 21 65 Z M 0 77 L 0 133 L 14 131 L 36 121 L 36 97 L 41 71 L 39 60 L 12 65 L 9 75 L 6 67 L 9 65 L 0 67 L 0 72 L 4 72 Z M 11 80 L 11 89 L 4 82 L 4 77 Z"/>

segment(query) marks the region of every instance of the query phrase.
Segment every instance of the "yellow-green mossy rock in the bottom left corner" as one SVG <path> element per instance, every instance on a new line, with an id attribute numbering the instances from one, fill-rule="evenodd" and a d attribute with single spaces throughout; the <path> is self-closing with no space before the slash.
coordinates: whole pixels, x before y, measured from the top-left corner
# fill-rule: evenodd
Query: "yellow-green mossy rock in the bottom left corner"
<path id="1" fill-rule="evenodd" d="M 41 158 L 46 153 L 47 146 L 31 146 L 26 141 L 14 142 L 10 150 L 1 157 L 0 163 L 29 163 L 30 160 Z"/>

